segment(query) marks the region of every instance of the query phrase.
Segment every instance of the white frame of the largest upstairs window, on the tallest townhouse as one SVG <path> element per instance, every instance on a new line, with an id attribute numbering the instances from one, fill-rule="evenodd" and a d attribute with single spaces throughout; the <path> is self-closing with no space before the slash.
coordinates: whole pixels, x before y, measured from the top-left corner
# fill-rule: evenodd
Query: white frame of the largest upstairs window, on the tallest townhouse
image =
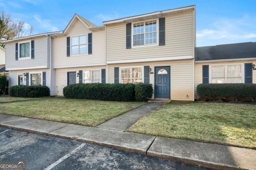
<path id="1" fill-rule="evenodd" d="M 155 44 L 146 44 L 146 36 L 145 36 L 145 34 L 146 34 L 146 22 L 148 22 L 148 21 L 156 21 L 156 43 Z M 133 28 L 134 28 L 134 24 L 136 24 L 136 23 L 144 23 L 144 45 L 136 45 L 136 46 L 134 46 L 133 45 Z M 141 47 L 152 47 L 152 46 L 158 46 L 159 45 L 159 41 L 158 41 L 158 39 L 159 39 L 159 19 L 154 19 L 154 20 L 146 20 L 146 21 L 140 21 L 140 22 L 133 22 L 132 23 L 132 48 L 141 48 Z"/>

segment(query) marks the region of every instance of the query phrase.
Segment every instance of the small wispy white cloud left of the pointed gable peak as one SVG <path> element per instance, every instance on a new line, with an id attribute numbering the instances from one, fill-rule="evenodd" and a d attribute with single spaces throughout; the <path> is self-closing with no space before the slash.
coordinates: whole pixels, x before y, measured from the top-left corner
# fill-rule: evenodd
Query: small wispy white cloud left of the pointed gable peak
<path id="1" fill-rule="evenodd" d="M 46 19 L 40 19 L 41 16 L 35 15 L 34 19 L 38 22 L 38 25 L 36 27 L 40 27 L 41 30 L 45 30 L 45 32 L 54 32 L 54 31 L 59 31 L 57 27 L 52 25 L 51 20 L 46 20 Z"/>

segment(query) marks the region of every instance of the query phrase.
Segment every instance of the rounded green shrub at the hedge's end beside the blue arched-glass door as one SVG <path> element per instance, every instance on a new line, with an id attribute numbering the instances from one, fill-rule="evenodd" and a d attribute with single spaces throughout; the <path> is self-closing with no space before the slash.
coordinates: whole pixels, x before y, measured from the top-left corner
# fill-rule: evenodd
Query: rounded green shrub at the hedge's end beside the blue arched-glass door
<path id="1" fill-rule="evenodd" d="M 136 84 L 134 91 L 135 91 L 136 100 L 146 101 L 152 98 L 152 94 L 153 94 L 152 84 L 145 84 L 145 83 Z"/>

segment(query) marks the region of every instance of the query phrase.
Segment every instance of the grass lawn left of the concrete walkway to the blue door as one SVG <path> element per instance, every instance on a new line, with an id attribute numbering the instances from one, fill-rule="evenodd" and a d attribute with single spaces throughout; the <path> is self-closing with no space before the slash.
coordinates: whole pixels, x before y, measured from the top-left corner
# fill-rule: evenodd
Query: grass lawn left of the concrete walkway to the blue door
<path id="1" fill-rule="evenodd" d="M 96 127 L 143 102 L 109 102 L 66 98 L 43 98 L 0 104 L 0 113 Z"/>

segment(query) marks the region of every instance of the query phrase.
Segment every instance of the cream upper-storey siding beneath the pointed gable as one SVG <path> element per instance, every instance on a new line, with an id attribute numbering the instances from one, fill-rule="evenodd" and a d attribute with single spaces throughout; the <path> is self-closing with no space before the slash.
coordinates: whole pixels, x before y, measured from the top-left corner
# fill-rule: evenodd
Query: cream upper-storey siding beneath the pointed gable
<path id="1" fill-rule="evenodd" d="M 66 47 L 66 37 L 76 37 L 80 35 L 87 35 L 92 33 L 92 54 L 82 54 L 82 55 L 71 55 L 67 57 L 67 47 Z M 105 30 L 100 31 L 90 31 L 83 23 L 76 19 L 76 23 L 71 28 L 70 32 L 66 36 L 55 37 L 53 39 L 54 44 L 54 68 L 61 66 L 76 66 L 76 65 L 86 65 L 86 64 L 103 64 L 106 63 L 106 36 Z M 70 47 L 71 49 L 71 47 Z M 88 49 L 88 44 L 87 44 Z"/>

